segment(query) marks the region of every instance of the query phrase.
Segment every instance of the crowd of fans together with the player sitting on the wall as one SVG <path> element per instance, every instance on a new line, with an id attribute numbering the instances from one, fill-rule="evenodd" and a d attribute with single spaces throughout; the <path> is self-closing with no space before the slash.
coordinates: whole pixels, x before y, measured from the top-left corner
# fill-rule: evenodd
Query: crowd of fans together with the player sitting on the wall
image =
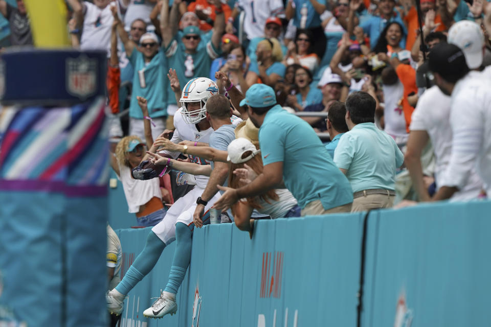
<path id="1" fill-rule="evenodd" d="M 0 0 L 10 44 L 32 44 L 16 3 Z M 138 225 L 154 226 L 107 294 L 111 313 L 174 240 L 169 282 L 144 315 L 176 312 L 192 230 L 211 208 L 252 237 L 255 219 L 491 192 L 483 0 L 66 3 L 74 48 L 107 52 L 111 167 Z"/>

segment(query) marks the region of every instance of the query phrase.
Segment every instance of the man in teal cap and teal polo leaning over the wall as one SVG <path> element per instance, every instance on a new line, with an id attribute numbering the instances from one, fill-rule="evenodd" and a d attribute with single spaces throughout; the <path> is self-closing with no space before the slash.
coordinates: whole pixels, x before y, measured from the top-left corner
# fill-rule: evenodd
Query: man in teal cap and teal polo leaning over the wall
<path id="1" fill-rule="evenodd" d="M 276 103 L 273 88 L 252 85 L 240 105 L 247 105 L 249 118 L 259 128 L 264 170 L 242 188 L 220 188 L 226 192 L 215 207 L 226 209 L 238 199 L 286 186 L 302 208 L 302 216 L 351 210 L 353 195 L 348 180 L 313 128 Z"/>

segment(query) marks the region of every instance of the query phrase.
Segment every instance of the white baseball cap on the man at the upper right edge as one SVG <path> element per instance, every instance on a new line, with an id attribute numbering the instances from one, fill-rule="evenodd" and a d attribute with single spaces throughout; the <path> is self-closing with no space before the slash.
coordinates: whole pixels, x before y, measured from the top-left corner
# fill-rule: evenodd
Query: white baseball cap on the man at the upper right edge
<path id="1" fill-rule="evenodd" d="M 481 66 L 484 34 L 474 21 L 460 20 L 456 22 L 450 28 L 447 40 L 462 50 L 467 67 L 475 69 Z"/>

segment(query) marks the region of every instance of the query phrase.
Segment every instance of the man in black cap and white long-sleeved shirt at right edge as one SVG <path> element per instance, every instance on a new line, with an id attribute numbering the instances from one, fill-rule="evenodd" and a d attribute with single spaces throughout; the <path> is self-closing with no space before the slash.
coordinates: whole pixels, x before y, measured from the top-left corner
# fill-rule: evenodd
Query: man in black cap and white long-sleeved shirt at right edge
<path id="1" fill-rule="evenodd" d="M 469 72 L 464 53 L 454 44 L 435 46 L 429 63 L 436 85 L 452 101 L 452 153 L 433 199 L 448 199 L 464 189 L 473 168 L 491 194 L 491 85 L 479 72 Z"/>

